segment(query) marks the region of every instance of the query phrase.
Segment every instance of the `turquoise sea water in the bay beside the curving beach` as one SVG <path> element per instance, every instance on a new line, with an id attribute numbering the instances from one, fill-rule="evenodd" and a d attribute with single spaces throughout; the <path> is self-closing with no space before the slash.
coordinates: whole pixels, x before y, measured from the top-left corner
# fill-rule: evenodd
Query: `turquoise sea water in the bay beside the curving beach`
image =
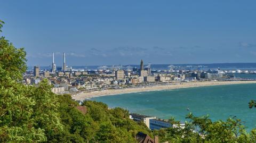
<path id="1" fill-rule="evenodd" d="M 109 107 L 123 107 L 132 113 L 162 119 L 174 116 L 182 122 L 189 112 L 196 116 L 209 114 L 212 120 L 226 120 L 235 115 L 244 121 L 248 130 L 256 128 L 256 108 L 248 107 L 251 99 L 256 99 L 256 84 L 183 88 L 92 98 Z"/>

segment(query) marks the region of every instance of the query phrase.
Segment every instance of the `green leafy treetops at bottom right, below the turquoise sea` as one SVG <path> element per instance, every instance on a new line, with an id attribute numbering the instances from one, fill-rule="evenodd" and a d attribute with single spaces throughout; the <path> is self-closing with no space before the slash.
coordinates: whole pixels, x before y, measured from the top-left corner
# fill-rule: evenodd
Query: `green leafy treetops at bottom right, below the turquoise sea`
<path id="1" fill-rule="evenodd" d="M 209 116 L 195 117 L 189 113 L 185 127 L 166 128 L 154 131 L 161 141 L 170 142 L 256 142 L 255 131 L 245 131 L 242 121 L 230 117 L 227 121 L 211 121 Z M 171 120 L 173 124 L 179 121 Z"/>

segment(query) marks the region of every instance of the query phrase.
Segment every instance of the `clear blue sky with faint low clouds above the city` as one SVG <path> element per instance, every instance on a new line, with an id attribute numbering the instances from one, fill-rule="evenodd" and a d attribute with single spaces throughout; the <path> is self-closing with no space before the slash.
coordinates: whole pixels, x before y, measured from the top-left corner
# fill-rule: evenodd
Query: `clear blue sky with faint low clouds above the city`
<path id="1" fill-rule="evenodd" d="M 256 1 L 1 1 L 29 66 L 256 62 Z"/>

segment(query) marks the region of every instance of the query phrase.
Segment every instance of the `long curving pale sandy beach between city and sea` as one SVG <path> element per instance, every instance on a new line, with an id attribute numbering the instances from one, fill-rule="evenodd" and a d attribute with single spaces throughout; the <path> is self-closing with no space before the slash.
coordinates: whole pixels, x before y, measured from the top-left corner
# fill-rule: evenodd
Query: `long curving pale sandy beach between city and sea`
<path id="1" fill-rule="evenodd" d="M 256 81 L 173 82 L 170 85 L 141 86 L 141 87 L 133 87 L 133 88 L 82 92 L 81 94 L 73 95 L 72 98 L 75 100 L 84 100 L 92 97 L 127 94 L 127 93 L 133 93 L 133 92 L 145 92 L 145 91 L 168 90 L 168 89 L 179 89 L 179 88 L 189 88 L 189 87 L 203 87 L 203 86 L 217 86 L 217 85 L 234 85 L 234 84 L 244 84 L 244 83 L 256 83 Z"/>

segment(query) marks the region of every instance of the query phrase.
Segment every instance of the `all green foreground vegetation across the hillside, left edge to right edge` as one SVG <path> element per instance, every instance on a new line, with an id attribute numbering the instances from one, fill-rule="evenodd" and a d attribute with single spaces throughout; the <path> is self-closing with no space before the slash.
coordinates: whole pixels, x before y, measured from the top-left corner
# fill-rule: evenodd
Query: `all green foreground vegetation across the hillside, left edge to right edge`
<path id="1" fill-rule="evenodd" d="M 19 82 L 26 71 L 25 56 L 23 48 L 0 38 L 0 142 L 136 142 L 139 131 L 158 135 L 162 142 L 256 142 L 256 130 L 247 133 L 233 117 L 213 122 L 208 116 L 189 114 L 185 128 L 150 131 L 130 120 L 122 108 L 85 101 L 78 110 L 70 95 L 53 94 L 46 80 L 37 87 Z"/>

